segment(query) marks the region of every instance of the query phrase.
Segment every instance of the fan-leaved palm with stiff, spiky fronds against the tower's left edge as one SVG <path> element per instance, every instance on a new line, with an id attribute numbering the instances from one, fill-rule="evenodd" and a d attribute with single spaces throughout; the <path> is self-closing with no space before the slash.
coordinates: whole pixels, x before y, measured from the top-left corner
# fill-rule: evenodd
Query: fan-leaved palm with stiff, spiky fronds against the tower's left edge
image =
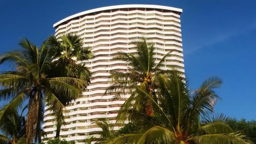
<path id="1" fill-rule="evenodd" d="M 83 47 L 83 39 L 81 39 L 78 35 L 68 33 L 62 35 L 59 40 L 51 35 L 48 38 L 48 44 L 52 48 L 54 54 L 53 65 L 55 69 L 53 72 L 49 74 L 51 77 L 72 77 L 79 78 L 85 81 L 84 89 L 89 85 L 92 73 L 91 71 L 82 64 L 89 59 L 94 58 L 91 49 L 89 47 Z M 62 95 L 60 95 L 61 97 Z M 69 104 L 67 100 L 62 100 L 61 103 L 63 105 Z M 61 112 L 56 117 L 57 120 L 57 130 L 56 130 L 56 138 L 60 136 L 60 128 L 62 125 L 65 125 L 65 119 L 63 116 L 63 111 L 59 110 L 57 112 Z"/>

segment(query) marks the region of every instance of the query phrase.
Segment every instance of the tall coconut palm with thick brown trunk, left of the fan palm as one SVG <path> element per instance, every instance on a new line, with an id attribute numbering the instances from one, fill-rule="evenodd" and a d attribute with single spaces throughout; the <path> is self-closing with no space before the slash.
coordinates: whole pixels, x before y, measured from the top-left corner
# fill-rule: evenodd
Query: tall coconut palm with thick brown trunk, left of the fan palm
<path id="1" fill-rule="evenodd" d="M 71 77 L 52 77 L 54 54 L 44 42 L 41 47 L 24 39 L 19 42 L 21 50 L 1 54 L 0 64 L 9 63 L 13 71 L 0 74 L 0 100 L 10 100 L 0 110 L 0 121 L 28 99 L 26 135 L 27 144 L 41 141 L 41 124 L 44 118 L 44 104 L 58 117 L 65 108 L 63 100 L 71 102 L 81 96 L 86 81 Z"/>

